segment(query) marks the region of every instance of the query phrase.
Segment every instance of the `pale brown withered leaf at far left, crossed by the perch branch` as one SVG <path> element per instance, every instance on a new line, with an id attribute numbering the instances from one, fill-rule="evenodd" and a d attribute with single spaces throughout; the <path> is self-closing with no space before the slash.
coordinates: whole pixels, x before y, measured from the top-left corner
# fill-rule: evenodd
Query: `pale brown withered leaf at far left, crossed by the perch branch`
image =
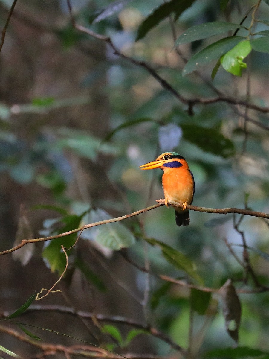
<path id="1" fill-rule="evenodd" d="M 33 239 L 33 232 L 27 216 L 27 211 L 25 210 L 24 205 L 21 205 L 18 229 L 16 232 L 15 242 L 13 246 L 18 246 L 18 244 L 20 244 L 23 239 Z M 12 258 L 14 260 L 20 261 L 22 266 L 25 266 L 32 258 L 33 253 L 34 243 L 27 243 L 23 247 L 12 252 Z"/>

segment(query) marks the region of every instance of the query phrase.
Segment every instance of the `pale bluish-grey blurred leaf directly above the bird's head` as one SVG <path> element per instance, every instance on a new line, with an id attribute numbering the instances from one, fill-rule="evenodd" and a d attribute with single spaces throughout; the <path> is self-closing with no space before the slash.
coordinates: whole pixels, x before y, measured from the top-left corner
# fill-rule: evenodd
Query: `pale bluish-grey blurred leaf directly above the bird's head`
<path id="1" fill-rule="evenodd" d="M 175 123 L 159 127 L 159 145 L 161 151 L 171 151 L 179 145 L 182 130 Z"/>

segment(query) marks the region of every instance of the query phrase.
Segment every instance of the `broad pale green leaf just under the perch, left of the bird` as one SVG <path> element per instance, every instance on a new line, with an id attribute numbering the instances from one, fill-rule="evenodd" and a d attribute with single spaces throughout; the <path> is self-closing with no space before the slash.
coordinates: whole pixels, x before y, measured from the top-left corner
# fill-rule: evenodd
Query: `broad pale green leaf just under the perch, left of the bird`
<path id="1" fill-rule="evenodd" d="M 107 223 L 98 226 L 95 241 L 102 246 L 118 251 L 135 244 L 135 237 L 123 224 L 119 222 Z"/>

